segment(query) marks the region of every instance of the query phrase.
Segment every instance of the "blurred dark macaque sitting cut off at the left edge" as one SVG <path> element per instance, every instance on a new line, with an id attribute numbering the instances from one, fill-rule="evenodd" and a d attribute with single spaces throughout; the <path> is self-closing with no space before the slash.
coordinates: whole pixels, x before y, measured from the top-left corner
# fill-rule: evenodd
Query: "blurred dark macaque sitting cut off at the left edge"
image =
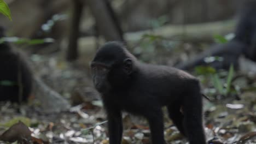
<path id="1" fill-rule="evenodd" d="M 4 28 L 0 27 L 2 37 Z M 7 42 L 0 43 L 0 67 L 0 101 L 26 101 L 31 93 L 31 71 L 20 53 L 11 49 Z"/>

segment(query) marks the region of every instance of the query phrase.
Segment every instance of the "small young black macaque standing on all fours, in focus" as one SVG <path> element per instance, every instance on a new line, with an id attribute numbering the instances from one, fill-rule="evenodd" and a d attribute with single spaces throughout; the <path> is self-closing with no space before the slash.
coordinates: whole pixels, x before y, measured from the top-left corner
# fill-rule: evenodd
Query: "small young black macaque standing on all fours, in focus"
<path id="1" fill-rule="evenodd" d="M 169 117 L 190 144 L 206 143 L 200 83 L 194 76 L 176 68 L 141 63 L 115 41 L 98 49 L 91 70 L 107 112 L 110 144 L 121 143 L 122 111 L 146 117 L 152 142 L 165 143 L 162 106 L 167 106 Z"/>

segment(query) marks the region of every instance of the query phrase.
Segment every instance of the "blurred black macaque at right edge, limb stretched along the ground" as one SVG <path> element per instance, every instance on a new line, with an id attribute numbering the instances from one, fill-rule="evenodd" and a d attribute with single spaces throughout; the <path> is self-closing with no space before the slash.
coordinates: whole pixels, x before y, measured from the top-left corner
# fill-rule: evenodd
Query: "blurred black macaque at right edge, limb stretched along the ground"
<path id="1" fill-rule="evenodd" d="M 190 70 L 196 65 L 211 65 L 216 69 L 229 69 L 231 64 L 238 66 L 238 57 L 256 62 L 256 0 L 241 1 L 241 9 L 238 12 L 238 22 L 235 29 L 235 38 L 226 44 L 217 44 L 200 53 L 189 62 L 176 65 L 177 68 Z M 205 57 L 220 56 L 222 62 L 206 63 Z"/>

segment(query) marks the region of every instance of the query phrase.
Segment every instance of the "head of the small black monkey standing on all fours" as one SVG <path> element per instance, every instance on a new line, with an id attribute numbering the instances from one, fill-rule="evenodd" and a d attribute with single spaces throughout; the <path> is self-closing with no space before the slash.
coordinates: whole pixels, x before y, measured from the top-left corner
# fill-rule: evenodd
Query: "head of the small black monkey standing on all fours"
<path id="1" fill-rule="evenodd" d="M 135 70 L 136 58 L 116 42 L 104 44 L 91 62 L 94 86 L 100 93 L 125 86 Z"/>

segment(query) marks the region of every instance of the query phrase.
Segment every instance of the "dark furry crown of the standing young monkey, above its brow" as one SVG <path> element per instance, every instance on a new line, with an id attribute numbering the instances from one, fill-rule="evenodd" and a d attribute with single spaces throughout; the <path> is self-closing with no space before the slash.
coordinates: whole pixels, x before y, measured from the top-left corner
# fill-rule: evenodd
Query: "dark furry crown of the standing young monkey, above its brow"
<path id="1" fill-rule="evenodd" d="M 132 59 L 133 62 L 136 61 L 136 57 L 133 56 L 122 43 L 109 41 L 98 49 L 93 61 L 118 64 L 119 62 L 123 62 L 126 58 Z"/>

